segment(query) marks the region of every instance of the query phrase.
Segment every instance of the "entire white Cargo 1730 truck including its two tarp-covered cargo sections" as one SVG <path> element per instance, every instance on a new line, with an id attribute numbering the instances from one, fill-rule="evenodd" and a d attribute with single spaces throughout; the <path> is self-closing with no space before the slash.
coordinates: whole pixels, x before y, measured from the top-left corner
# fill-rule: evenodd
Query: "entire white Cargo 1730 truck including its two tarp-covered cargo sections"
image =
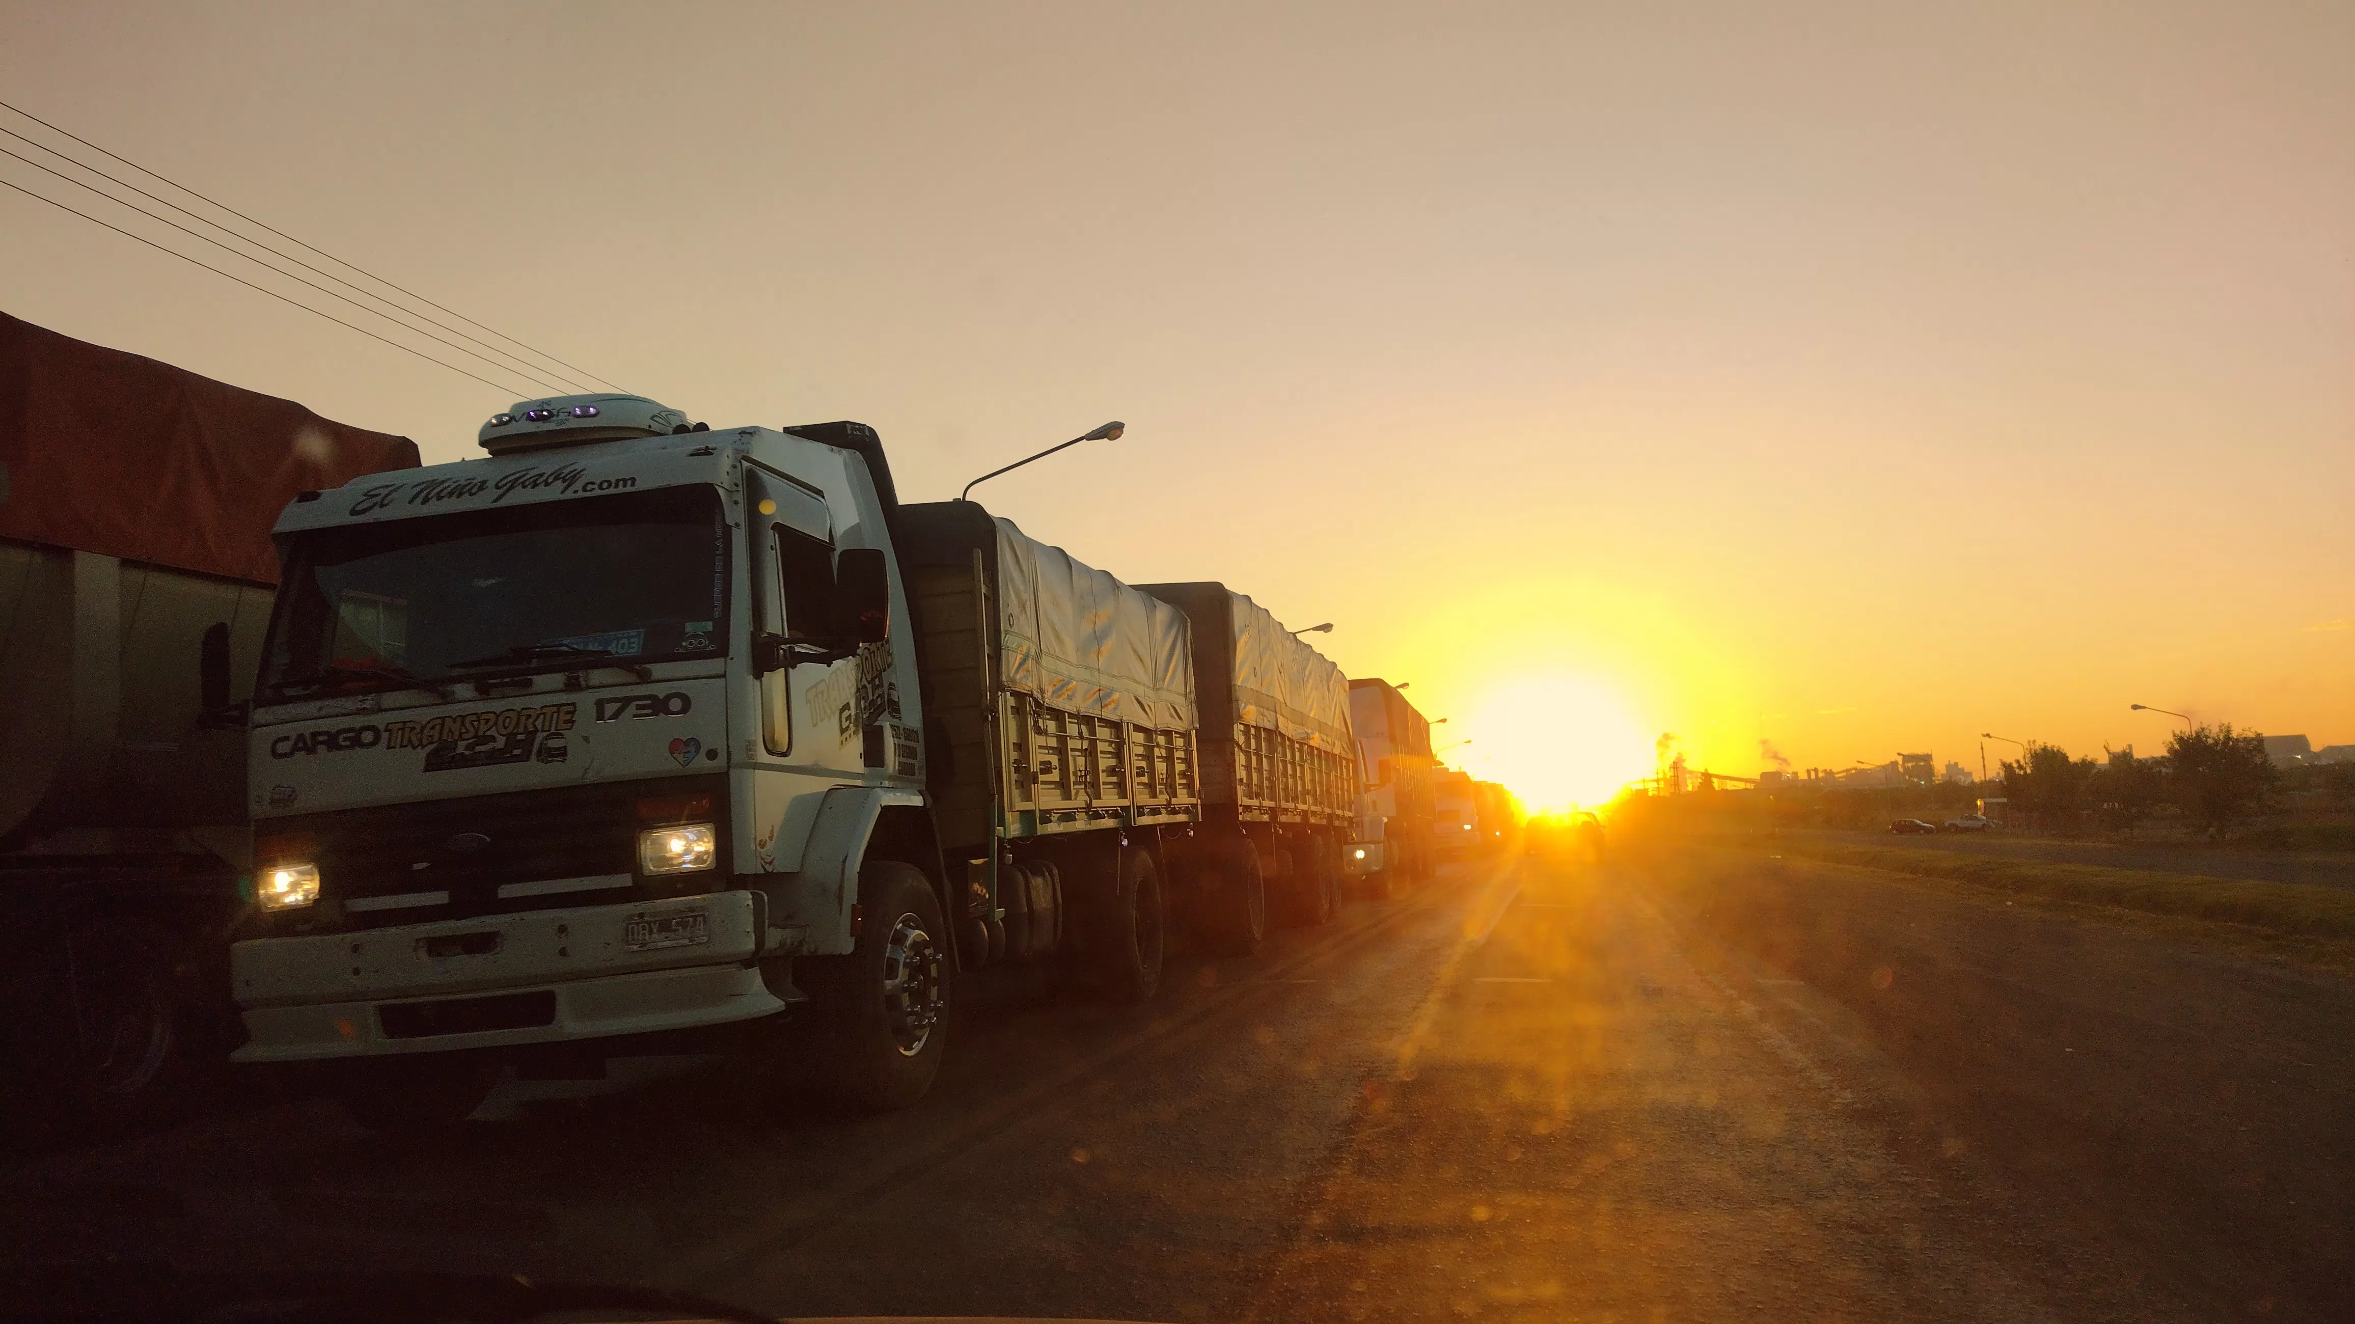
<path id="1" fill-rule="evenodd" d="M 568 396 L 480 443 L 278 523 L 238 1058 L 325 1065 L 370 1126 L 657 1044 L 907 1105 L 958 973 L 1147 999 L 1170 924 L 1255 942 L 1246 860 L 1281 883 L 1338 839 L 1326 709 L 1314 740 L 1229 711 L 1255 648 L 980 504 L 900 504 L 862 424 Z"/>

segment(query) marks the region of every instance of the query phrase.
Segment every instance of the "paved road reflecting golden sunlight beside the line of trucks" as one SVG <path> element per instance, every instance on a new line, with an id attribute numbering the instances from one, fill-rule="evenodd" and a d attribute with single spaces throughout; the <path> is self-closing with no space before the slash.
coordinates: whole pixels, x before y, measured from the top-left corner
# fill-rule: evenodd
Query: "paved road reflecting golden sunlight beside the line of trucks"
<path id="1" fill-rule="evenodd" d="M 902 1114 L 688 1060 L 436 1145 L 257 1105 L 19 1166 L 0 1256 L 777 1315 L 2331 1317 L 2350 1020 L 1846 869 L 1465 865 L 1142 1011 L 1001 982 Z"/>

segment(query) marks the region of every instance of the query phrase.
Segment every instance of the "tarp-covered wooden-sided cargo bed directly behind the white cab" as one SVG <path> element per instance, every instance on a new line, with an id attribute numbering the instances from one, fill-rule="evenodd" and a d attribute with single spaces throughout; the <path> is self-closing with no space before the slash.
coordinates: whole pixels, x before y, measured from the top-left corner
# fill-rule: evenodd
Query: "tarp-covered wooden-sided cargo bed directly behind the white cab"
<path id="1" fill-rule="evenodd" d="M 1201 817 L 1185 615 L 977 502 L 895 518 L 961 949 L 1076 952 L 1107 989 L 1149 997 L 1163 914 L 1192 902 L 1173 867 Z"/>

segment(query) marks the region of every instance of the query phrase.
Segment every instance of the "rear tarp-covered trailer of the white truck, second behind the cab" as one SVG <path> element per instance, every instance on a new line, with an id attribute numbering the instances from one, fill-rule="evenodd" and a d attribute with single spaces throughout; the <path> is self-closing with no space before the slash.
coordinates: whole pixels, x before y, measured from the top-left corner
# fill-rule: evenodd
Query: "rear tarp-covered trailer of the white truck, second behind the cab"
<path id="1" fill-rule="evenodd" d="M 1260 886 L 1295 919 L 1328 921 L 1359 792 L 1349 678 L 1225 584 L 1142 589 L 1194 622 L 1206 836 L 1248 841 Z"/>

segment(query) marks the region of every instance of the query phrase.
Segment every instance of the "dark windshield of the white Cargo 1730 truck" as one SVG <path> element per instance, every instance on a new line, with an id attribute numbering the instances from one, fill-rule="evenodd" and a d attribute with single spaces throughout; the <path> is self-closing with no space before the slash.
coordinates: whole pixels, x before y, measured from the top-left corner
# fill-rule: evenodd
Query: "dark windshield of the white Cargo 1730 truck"
<path id="1" fill-rule="evenodd" d="M 728 523 L 664 488 L 301 535 L 264 697 L 436 686 L 728 648 Z"/>

